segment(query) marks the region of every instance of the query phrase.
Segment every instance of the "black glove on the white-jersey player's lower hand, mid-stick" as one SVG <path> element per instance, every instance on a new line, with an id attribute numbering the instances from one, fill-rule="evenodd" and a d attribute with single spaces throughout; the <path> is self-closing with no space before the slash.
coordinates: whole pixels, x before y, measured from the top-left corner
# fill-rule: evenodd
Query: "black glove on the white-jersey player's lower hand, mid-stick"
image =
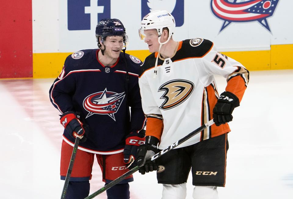
<path id="1" fill-rule="evenodd" d="M 140 145 L 137 152 L 137 165 L 141 166 L 139 172 L 143 175 L 146 172 L 157 171 L 158 167 L 155 161 L 146 162 L 147 159 L 159 152 L 157 145 L 159 139 L 154 136 L 147 136 L 145 144 Z"/>

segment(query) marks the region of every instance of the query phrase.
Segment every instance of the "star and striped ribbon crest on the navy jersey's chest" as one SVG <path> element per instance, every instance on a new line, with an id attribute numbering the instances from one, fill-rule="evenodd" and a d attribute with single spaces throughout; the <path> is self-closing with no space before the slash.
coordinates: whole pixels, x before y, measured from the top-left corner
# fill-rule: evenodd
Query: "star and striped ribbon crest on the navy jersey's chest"
<path id="1" fill-rule="evenodd" d="M 90 94 L 83 101 L 83 108 L 89 112 L 85 118 L 94 114 L 100 114 L 109 115 L 116 121 L 114 114 L 118 111 L 124 97 L 125 92 L 115 93 L 107 91 L 107 88 L 104 91 Z"/>

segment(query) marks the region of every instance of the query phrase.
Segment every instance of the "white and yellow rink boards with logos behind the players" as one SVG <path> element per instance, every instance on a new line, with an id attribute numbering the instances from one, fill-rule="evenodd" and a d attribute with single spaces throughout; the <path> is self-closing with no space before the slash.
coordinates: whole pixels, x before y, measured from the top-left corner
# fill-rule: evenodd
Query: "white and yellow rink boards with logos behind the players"
<path id="1" fill-rule="evenodd" d="M 67 55 L 97 48 L 95 28 L 103 18 L 122 21 L 127 52 L 142 61 L 150 53 L 139 39 L 150 11 L 175 18 L 174 40 L 204 38 L 249 70 L 291 69 L 292 1 L 281 0 L 32 0 L 33 76 L 56 77 Z"/>

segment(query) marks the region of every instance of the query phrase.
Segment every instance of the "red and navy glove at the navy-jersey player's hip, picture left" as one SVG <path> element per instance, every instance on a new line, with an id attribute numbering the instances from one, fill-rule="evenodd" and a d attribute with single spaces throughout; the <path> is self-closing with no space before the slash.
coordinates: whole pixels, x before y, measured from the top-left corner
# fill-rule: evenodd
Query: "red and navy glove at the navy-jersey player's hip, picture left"
<path id="1" fill-rule="evenodd" d="M 64 126 L 66 133 L 73 138 L 76 138 L 75 134 L 81 136 L 80 142 L 86 141 L 85 129 L 88 129 L 88 125 L 84 125 L 80 121 L 80 116 L 76 115 L 73 111 L 65 112 L 60 115 L 60 123 Z"/>

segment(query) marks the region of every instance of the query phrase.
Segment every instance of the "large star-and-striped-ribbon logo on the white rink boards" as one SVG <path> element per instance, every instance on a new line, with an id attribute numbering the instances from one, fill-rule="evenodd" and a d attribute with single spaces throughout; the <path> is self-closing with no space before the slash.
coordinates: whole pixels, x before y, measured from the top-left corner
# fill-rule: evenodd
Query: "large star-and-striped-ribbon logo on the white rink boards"
<path id="1" fill-rule="evenodd" d="M 224 20 L 220 32 L 232 22 L 258 21 L 270 31 L 266 18 L 273 16 L 279 0 L 211 0 L 216 17 Z"/>

